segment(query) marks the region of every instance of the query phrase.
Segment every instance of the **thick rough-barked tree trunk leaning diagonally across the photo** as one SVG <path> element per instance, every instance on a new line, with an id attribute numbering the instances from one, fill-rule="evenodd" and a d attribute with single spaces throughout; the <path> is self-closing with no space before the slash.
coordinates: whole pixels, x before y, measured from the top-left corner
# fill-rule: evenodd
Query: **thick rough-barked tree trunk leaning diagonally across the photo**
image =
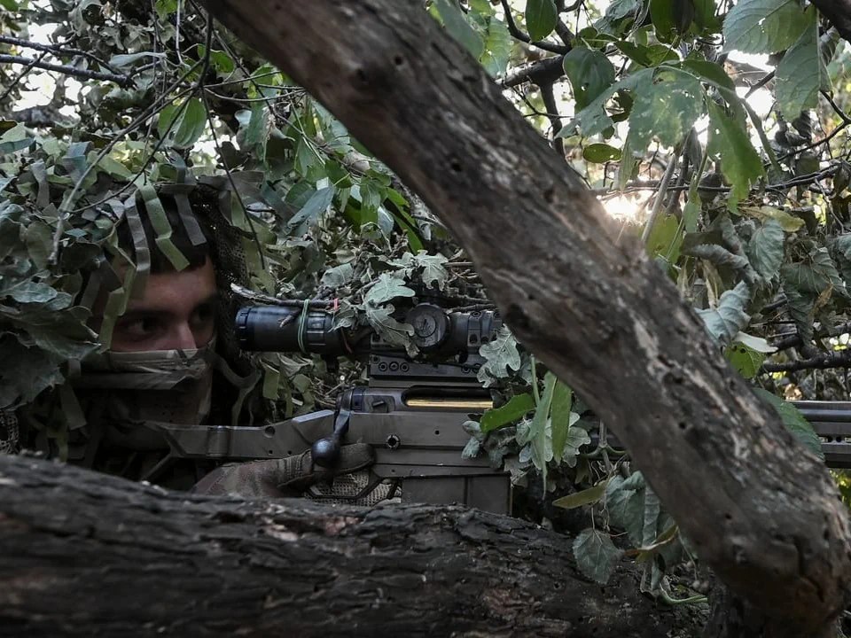
<path id="1" fill-rule="evenodd" d="M 851 556 L 827 471 L 460 45 L 416 3 L 206 4 L 441 215 L 511 329 L 612 427 L 765 633 L 828 631 Z"/>

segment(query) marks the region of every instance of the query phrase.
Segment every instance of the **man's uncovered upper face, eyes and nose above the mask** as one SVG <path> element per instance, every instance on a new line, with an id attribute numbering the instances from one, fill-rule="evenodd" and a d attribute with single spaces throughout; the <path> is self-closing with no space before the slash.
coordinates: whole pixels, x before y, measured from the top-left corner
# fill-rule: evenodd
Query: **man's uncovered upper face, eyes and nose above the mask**
<path id="1" fill-rule="evenodd" d="M 215 332 L 215 271 L 199 268 L 148 276 L 141 299 L 115 323 L 115 352 L 186 350 L 207 346 Z"/>

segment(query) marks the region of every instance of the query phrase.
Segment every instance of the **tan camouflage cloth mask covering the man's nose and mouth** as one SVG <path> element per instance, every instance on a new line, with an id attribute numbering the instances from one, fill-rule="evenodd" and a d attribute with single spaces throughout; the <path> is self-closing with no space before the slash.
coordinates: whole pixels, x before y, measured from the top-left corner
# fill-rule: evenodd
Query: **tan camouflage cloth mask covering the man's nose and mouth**
<path id="1" fill-rule="evenodd" d="M 107 442 L 141 451 L 166 448 L 156 424 L 200 424 L 210 413 L 214 346 L 106 352 L 83 364 L 74 387 L 101 401 Z"/>

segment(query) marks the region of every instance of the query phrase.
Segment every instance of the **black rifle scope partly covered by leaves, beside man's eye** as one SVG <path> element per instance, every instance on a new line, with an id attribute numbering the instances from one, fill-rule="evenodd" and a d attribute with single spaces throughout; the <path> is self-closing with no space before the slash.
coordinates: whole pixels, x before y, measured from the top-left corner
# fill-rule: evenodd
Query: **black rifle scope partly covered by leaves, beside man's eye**
<path id="1" fill-rule="evenodd" d="M 238 310 L 236 334 L 246 351 L 316 353 L 325 357 L 362 351 L 347 340 L 347 332 L 334 329 L 334 317 L 324 310 L 300 307 L 246 306 Z M 447 312 L 431 303 L 408 311 L 404 322 L 414 329 L 413 341 L 429 354 L 463 354 L 479 350 L 502 325 L 496 310 Z M 373 343 L 372 346 L 375 346 Z"/>

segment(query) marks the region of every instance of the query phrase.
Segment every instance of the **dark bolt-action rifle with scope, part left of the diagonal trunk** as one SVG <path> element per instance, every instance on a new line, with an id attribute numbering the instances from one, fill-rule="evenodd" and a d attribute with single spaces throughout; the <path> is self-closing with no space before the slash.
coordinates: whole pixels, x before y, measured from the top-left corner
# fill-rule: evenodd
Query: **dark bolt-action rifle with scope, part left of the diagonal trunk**
<path id="1" fill-rule="evenodd" d="M 419 303 L 405 316 L 420 355 L 411 358 L 374 332 L 351 335 L 333 328 L 321 310 L 249 306 L 238 311 L 239 346 L 246 351 L 365 354 L 367 385 L 340 393 L 335 410 L 319 410 L 260 426 L 168 425 L 162 433 L 171 455 L 247 461 L 299 455 L 333 467 L 340 446 L 363 441 L 376 454 L 371 471 L 401 486 L 402 502 L 460 502 L 511 512 L 511 481 L 486 458 L 465 459 L 462 425 L 492 406 L 477 380 L 484 361 L 479 346 L 502 326 L 494 310 L 447 312 Z"/>

